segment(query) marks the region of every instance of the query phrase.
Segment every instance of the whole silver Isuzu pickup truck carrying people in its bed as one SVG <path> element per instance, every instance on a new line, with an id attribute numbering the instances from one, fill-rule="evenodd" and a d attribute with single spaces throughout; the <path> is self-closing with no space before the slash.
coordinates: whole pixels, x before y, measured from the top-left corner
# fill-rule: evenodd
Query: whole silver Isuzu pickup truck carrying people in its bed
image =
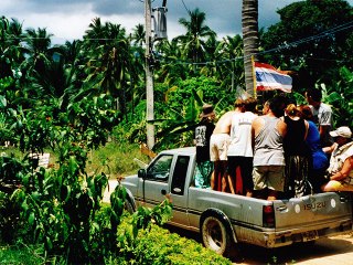
<path id="1" fill-rule="evenodd" d="M 274 248 L 352 230 L 350 193 L 317 193 L 266 201 L 193 187 L 195 148 L 160 152 L 121 182 L 128 204 L 154 206 L 170 194 L 170 224 L 201 233 L 203 244 L 227 255 L 237 243 Z"/>

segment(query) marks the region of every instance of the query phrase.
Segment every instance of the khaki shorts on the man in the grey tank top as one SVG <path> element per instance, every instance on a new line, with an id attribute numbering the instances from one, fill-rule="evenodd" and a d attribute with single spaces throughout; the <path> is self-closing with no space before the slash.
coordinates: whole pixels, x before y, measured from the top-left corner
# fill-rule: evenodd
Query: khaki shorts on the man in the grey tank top
<path id="1" fill-rule="evenodd" d="M 285 190 L 285 166 L 255 166 L 253 169 L 254 190 Z"/>

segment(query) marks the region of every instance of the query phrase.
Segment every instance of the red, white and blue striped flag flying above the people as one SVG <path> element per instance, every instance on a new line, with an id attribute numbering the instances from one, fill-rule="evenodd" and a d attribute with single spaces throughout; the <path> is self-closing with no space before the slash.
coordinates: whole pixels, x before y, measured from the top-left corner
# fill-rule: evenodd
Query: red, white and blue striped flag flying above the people
<path id="1" fill-rule="evenodd" d="M 256 89 L 291 92 L 291 77 L 272 65 L 255 62 Z"/>

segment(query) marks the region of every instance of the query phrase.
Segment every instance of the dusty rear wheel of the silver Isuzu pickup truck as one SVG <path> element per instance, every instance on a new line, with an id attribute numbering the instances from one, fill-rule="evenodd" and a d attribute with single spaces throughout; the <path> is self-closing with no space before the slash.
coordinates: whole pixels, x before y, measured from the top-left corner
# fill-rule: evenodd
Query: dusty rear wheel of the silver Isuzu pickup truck
<path id="1" fill-rule="evenodd" d="M 216 216 L 207 216 L 201 226 L 202 243 L 206 248 L 227 256 L 232 251 L 231 236 L 224 223 Z"/>

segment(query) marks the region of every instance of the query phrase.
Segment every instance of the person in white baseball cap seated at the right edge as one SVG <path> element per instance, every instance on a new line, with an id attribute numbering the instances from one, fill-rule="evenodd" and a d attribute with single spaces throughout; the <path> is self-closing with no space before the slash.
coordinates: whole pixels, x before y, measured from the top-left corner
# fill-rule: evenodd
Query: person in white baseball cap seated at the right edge
<path id="1" fill-rule="evenodd" d="M 353 141 L 352 131 L 342 126 L 330 131 L 334 139 L 331 147 L 323 148 L 331 152 L 328 168 L 329 182 L 322 186 L 323 191 L 353 191 Z"/>

